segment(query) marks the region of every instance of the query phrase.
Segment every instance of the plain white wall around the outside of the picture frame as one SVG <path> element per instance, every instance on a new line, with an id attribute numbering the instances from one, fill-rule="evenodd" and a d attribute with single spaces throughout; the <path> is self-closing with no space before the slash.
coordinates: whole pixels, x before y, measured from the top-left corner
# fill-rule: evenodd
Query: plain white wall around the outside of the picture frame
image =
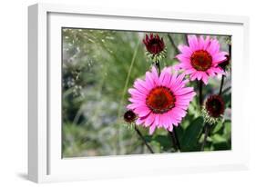
<path id="1" fill-rule="evenodd" d="M 42 1 L 37 1 L 42 2 Z M 152 9 L 152 11 L 175 11 L 189 13 L 210 13 L 221 15 L 249 15 L 251 18 L 251 79 L 255 81 L 256 11 L 251 0 L 192 0 L 192 1 L 138 1 L 138 0 L 48 0 L 50 3 L 77 5 L 100 5 Z M 0 8 L 0 186 L 34 186 L 26 181 L 26 135 L 27 135 L 27 5 L 33 0 L 6 0 Z M 242 62 L 241 62 L 242 63 Z M 242 78 L 242 77 L 241 77 Z M 242 88 L 241 88 L 242 89 Z M 251 106 L 255 111 L 255 85 L 251 85 Z M 251 121 L 251 171 L 219 172 L 172 175 L 163 177 L 143 177 L 108 181 L 54 183 L 51 186 L 255 186 L 256 180 L 256 123 Z M 242 128 L 242 124 L 241 124 Z M 254 184 L 254 185 L 253 185 Z M 45 186 L 46 184 L 43 184 Z M 49 184 L 47 184 L 49 185 Z"/>

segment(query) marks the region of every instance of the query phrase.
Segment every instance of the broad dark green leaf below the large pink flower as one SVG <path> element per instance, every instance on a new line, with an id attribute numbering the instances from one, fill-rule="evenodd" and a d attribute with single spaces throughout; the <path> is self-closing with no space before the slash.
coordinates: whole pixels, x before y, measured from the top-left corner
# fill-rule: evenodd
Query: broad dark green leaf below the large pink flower
<path id="1" fill-rule="evenodd" d="M 200 132 L 203 127 L 203 118 L 198 117 L 196 118 L 192 123 L 189 124 L 189 127 L 185 130 L 182 139 L 180 141 L 181 143 L 181 149 L 182 151 L 194 151 L 194 147 L 198 143 L 198 139 L 200 136 Z"/>

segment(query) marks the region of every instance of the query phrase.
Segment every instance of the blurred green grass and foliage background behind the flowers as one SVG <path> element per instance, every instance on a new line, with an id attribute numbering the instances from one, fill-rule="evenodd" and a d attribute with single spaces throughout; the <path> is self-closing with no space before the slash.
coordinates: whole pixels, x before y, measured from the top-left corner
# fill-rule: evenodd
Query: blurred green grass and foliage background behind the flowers
<path id="1" fill-rule="evenodd" d="M 123 122 L 128 103 L 128 88 L 143 77 L 151 62 L 142 43 L 146 33 L 63 28 L 62 54 L 62 153 L 63 157 L 84 157 L 148 153 L 138 134 Z M 176 45 L 186 44 L 186 34 L 162 34 L 167 46 L 167 58 L 161 67 L 177 64 Z M 228 52 L 229 36 L 217 36 L 221 49 Z M 130 72 L 130 74 L 128 74 Z M 189 83 L 197 90 L 196 83 Z M 203 94 L 216 94 L 220 77 L 210 79 Z M 226 103 L 224 119 L 212 127 L 205 150 L 229 150 L 230 74 L 223 97 Z M 189 105 L 189 113 L 179 126 L 182 152 L 200 151 L 203 120 L 198 97 Z M 167 132 L 157 130 L 152 136 L 148 129 L 138 127 L 155 153 L 174 152 Z"/>

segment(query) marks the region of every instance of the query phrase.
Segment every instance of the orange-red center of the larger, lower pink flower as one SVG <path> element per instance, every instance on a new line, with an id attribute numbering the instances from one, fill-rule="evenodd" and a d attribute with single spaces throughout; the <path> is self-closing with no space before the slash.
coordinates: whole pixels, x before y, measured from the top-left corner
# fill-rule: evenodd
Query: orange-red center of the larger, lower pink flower
<path id="1" fill-rule="evenodd" d="M 164 86 L 159 86 L 152 89 L 146 99 L 148 108 L 153 113 L 167 113 L 175 106 L 175 96 Z"/>

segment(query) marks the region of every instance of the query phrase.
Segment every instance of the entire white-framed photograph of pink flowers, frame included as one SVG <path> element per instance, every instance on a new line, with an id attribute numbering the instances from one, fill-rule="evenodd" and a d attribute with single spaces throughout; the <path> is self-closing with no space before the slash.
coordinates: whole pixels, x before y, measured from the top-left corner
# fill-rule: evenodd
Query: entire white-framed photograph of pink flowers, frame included
<path id="1" fill-rule="evenodd" d="M 247 17 L 28 13 L 31 181 L 248 168 Z"/>

